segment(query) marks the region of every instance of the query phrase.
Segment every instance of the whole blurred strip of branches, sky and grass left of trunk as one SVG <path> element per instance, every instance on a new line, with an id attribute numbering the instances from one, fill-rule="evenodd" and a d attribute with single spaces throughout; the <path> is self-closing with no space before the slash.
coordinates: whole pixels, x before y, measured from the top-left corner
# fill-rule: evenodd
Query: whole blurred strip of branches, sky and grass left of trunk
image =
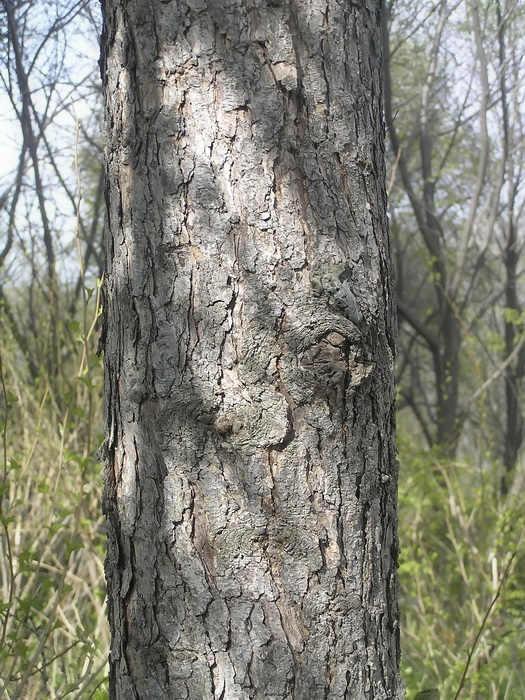
<path id="1" fill-rule="evenodd" d="M 11 700 L 94 697 L 105 677 L 96 24 L 85 2 L 0 2 L 0 696 Z"/>

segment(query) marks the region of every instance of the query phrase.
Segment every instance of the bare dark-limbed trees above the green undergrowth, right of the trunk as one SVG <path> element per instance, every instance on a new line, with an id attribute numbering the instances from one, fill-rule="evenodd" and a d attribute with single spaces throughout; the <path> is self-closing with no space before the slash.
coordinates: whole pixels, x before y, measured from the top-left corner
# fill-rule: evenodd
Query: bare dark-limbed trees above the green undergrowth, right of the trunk
<path id="1" fill-rule="evenodd" d="M 522 13 L 513 2 L 407 2 L 391 4 L 384 22 L 401 408 L 411 408 L 429 445 L 452 455 L 465 425 L 483 420 L 480 435 L 510 475 L 523 439 Z M 505 337 L 497 353 L 493 333 Z"/>

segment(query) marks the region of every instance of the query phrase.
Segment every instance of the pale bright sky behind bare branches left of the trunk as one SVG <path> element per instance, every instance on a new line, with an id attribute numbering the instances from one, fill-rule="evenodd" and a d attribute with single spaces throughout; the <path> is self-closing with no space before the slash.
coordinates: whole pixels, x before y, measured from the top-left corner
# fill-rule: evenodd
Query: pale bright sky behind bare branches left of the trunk
<path id="1" fill-rule="evenodd" d="M 75 151 L 82 156 L 83 133 L 100 140 L 98 32 L 100 7 L 94 0 L 32 0 L 15 15 L 21 62 L 31 95 L 31 122 L 38 137 L 38 163 L 45 208 L 56 245 L 58 265 L 69 276 L 76 259 L 75 204 L 78 200 Z M 13 23 L 0 14 L 0 251 L 7 240 L 23 143 L 22 93 L 15 60 Z M 11 36 L 9 36 L 9 31 Z M 9 38 L 7 38 L 9 37 Z M 43 125 L 43 128 L 41 128 Z M 40 134 L 40 136 L 39 136 Z M 82 157 L 80 161 L 82 162 Z M 91 178 L 91 179 L 90 179 Z M 88 173 L 85 186 L 90 187 Z M 82 188 L 83 174 L 80 173 Z M 0 270 L 0 281 L 23 280 L 43 255 L 42 219 L 34 191 L 35 175 L 26 151 L 22 189 L 15 210 L 14 244 Z"/>

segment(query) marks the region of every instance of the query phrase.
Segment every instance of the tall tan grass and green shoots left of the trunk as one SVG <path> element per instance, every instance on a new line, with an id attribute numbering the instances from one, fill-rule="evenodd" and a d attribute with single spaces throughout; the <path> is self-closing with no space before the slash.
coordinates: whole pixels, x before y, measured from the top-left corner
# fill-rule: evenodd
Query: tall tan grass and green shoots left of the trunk
<path id="1" fill-rule="evenodd" d="M 85 301 L 60 372 L 36 382 L 0 318 L 0 696 L 13 700 L 107 697 L 98 296 Z"/>

